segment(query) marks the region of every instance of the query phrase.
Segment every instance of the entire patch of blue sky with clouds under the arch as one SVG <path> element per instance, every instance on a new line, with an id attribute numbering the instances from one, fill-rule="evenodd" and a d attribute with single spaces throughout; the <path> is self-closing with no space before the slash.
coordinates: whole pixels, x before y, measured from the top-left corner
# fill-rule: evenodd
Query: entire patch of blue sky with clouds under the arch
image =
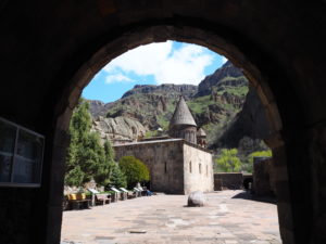
<path id="1" fill-rule="evenodd" d="M 166 41 L 140 46 L 106 64 L 84 89 L 83 97 L 105 103 L 135 85 L 198 85 L 226 62 L 201 46 Z"/>

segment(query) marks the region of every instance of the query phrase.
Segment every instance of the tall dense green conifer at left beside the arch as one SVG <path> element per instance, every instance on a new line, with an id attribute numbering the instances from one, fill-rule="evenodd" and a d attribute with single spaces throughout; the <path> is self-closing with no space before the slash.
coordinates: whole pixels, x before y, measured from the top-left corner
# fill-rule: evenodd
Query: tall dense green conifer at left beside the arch
<path id="1" fill-rule="evenodd" d="M 109 154 L 104 152 L 99 134 L 90 132 L 91 117 L 88 110 L 89 104 L 80 99 L 71 119 L 71 144 L 65 167 L 67 185 L 80 187 L 91 179 L 103 185 L 109 182 Z"/>

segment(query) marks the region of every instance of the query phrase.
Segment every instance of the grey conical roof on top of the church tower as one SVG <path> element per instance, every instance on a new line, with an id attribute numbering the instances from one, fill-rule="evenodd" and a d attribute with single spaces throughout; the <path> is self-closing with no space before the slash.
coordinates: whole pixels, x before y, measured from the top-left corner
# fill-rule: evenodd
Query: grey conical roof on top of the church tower
<path id="1" fill-rule="evenodd" d="M 184 97 L 180 97 L 170 121 L 170 127 L 177 125 L 197 126 Z"/>

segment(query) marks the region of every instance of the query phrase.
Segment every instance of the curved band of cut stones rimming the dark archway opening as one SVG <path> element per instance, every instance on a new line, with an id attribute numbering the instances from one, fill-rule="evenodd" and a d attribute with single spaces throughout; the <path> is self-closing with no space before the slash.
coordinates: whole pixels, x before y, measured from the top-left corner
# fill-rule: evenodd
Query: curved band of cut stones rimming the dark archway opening
<path id="1" fill-rule="evenodd" d="M 235 64 L 239 65 L 250 82 L 255 87 L 258 93 L 264 104 L 266 115 L 272 128 L 272 134 L 267 140 L 268 145 L 272 147 L 275 158 L 277 158 L 276 171 L 280 176 L 277 178 L 276 185 L 279 185 L 279 195 L 289 194 L 289 181 L 288 170 L 285 157 L 285 143 L 281 136 L 281 119 L 278 114 L 278 107 L 275 103 L 275 98 L 269 89 L 268 73 L 262 74 L 260 67 L 251 63 L 243 52 L 241 52 L 236 46 L 230 44 L 226 39 L 217 36 L 215 33 L 206 29 L 199 29 L 198 27 L 184 26 L 178 28 L 175 26 L 150 26 L 142 29 L 128 30 L 123 36 L 118 37 L 114 41 L 110 41 L 96 52 L 92 57 L 86 62 L 76 73 L 71 80 L 70 87 L 66 88 L 62 100 L 58 104 L 58 111 L 64 111 L 58 117 L 57 133 L 65 134 L 67 131 L 70 116 L 73 107 L 76 105 L 78 98 L 83 91 L 83 88 L 88 85 L 91 78 L 112 59 L 126 52 L 129 49 L 138 47 L 140 44 L 147 44 L 150 42 L 165 41 L 167 39 L 174 39 L 184 42 L 191 42 L 210 48 L 218 53 L 224 54 Z M 208 41 L 209 40 L 209 41 Z M 263 57 L 264 60 L 268 57 Z M 68 104 L 68 106 L 62 106 L 62 104 Z M 58 149 L 54 149 L 58 150 Z M 60 149 L 59 149 L 60 150 Z M 61 162 L 64 164 L 64 162 Z M 55 197 L 53 195 L 53 197 Z M 290 216 L 284 217 L 281 213 L 288 213 L 291 215 L 291 203 L 288 201 L 279 200 L 278 211 L 280 213 L 280 232 L 285 242 L 292 242 L 292 232 L 288 230 L 287 226 L 292 226 L 292 218 Z"/>

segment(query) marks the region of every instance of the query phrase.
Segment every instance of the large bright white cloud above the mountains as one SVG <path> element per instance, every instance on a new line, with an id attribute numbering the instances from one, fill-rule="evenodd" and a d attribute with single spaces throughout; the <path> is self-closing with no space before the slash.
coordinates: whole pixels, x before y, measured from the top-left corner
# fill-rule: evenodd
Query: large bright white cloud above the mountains
<path id="1" fill-rule="evenodd" d="M 158 84 L 193 84 L 204 78 L 204 68 L 212 64 L 213 55 L 204 48 L 195 44 L 183 44 L 173 49 L 173 42 L 151 43 L 117 56 L 104 70 L 108 75 L 118 72 L 134 73 L 138 76 L 153 75 Z M 106 78 L 110 81 L 124 79 Z"/>

